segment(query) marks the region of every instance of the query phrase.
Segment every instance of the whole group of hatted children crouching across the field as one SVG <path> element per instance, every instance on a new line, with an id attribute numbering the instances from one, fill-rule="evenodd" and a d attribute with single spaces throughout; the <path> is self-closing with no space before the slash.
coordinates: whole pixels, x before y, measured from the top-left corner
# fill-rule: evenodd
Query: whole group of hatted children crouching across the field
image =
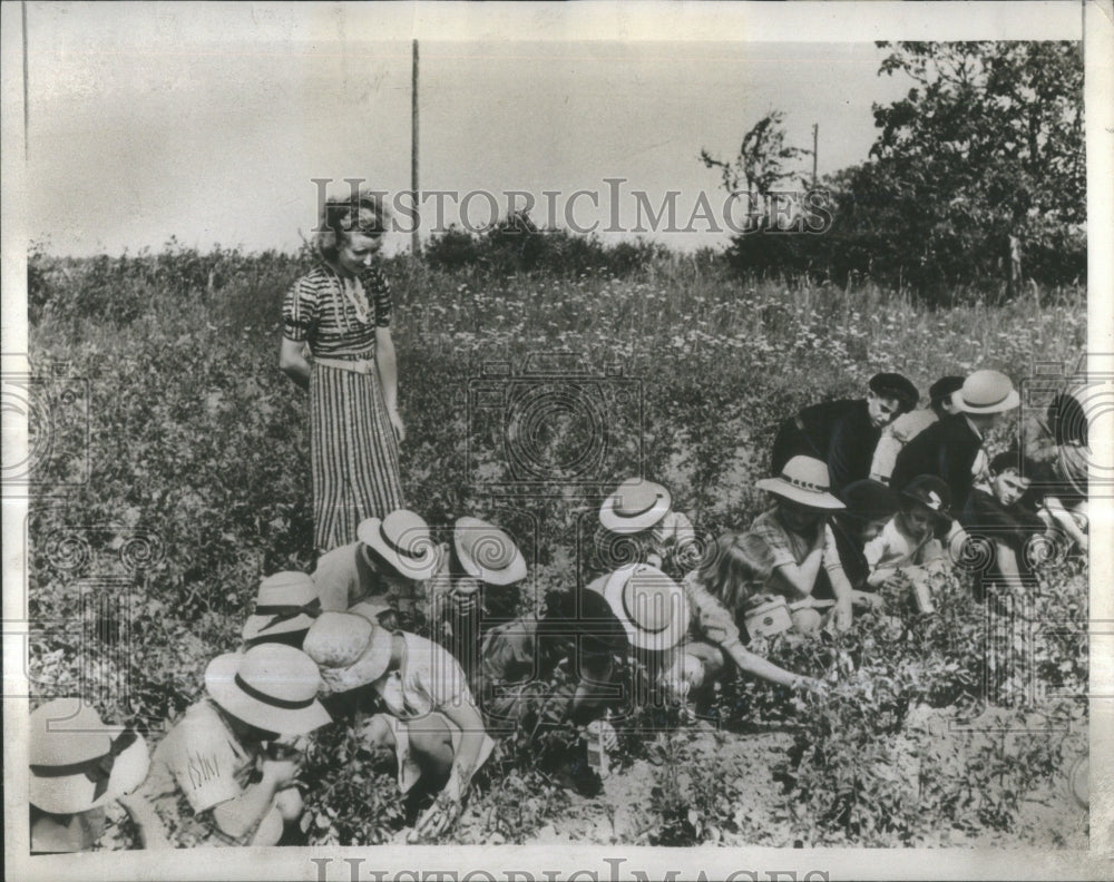
<path id="1" fill-rule="evenodd" d="M 574 733 L 558 762 L 590 793 L 617 744 L 610 721 L 647 695 L 684 707 L 729 668 L 822 689 L 747 648 L 756 637 L 846 628 L 893 579 L 931 612 L 928 577 L 965 536 L 994 549 L 989 578 L 1006 589 L 1039 564 L 1035 535 L 1086 550 L 1087 439 L 1071 395 L 1048 410 L 1057 457 L 1045 471 L 1016 450 L 986 454 L 987 433 L 1018 405 L 1008 378 L 944 378 L 929 395 L 913 410 L 913 384 L 879 374 L 864 399 L 788 420 L 772 477 L 756 483 L 772 507 L 714 542 L 667 488 L 624 482 L 599 529 L 636 559 L 536 607 L 524 602 L 527 562 L 498 526 L 462 517 L 438 543 L 416 512 L 365 519 L 313 574 L 263 579 L 242 647 L 213 659 L 205 696 L 152 753 L 76 702 L 35 710 L 32 851 L 89 847 L 113 801 L 146 847 L 297 843 L 300 761 L 329 725 L 392 757 L 400 791 L 422 806 L 408 839 L 429 841 L 460 814 L 497 737 Z"/>

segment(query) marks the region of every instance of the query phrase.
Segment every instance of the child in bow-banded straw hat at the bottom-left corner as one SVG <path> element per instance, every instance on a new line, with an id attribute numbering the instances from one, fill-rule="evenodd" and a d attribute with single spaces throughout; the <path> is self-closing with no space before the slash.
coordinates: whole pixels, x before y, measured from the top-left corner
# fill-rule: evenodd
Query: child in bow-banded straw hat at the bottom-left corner
<path id="1" fill-rule="evenodd" d="M 144 845 L 163 841 L 157 819 L 127 796 L 147 775 L 141 735 L 106 725 L 80 698 L 56 698 L 31 712 L 28 746 L 32 854 L 92 847 L 114 802 L 128 808 Z"/>

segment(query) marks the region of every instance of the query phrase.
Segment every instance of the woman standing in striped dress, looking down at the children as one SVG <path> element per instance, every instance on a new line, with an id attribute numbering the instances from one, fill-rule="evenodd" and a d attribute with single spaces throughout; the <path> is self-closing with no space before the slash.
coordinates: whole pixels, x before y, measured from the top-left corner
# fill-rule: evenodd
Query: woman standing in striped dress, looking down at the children
<path id="1" fill-rule="evenodd" d="M 322 263 L 283 302 L 280 367 L 310 392 L 314 546 L 355 541 L 356 526 L 402 508 L 398 369 L 391 293 L 373 258 L 387 209 L 361 193 L 330 199 L 316 246 Z M 312 355 L 312 361 L 306 359 Z"/>

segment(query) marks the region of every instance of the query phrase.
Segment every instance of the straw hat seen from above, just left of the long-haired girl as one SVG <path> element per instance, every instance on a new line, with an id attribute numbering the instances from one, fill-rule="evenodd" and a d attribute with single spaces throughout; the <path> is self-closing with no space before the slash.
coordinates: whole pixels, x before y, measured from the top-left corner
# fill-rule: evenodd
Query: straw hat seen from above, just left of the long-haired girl
<path id="1" fill-rule="evenodd" d="M 688 630 L 684 589 L 648 564 L 615 570 L 604 582 L 603 595 L 631 645 L 639 649 L 671 649 Z"/>

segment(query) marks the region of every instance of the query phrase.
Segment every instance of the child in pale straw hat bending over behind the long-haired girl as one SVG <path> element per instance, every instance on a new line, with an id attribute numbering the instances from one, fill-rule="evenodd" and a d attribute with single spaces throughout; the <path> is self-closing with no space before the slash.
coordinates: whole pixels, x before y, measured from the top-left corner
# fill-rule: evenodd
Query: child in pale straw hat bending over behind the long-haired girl
<path id="1" fill-rule="evenodd" d="M 673 509 L 670 491 L 654 481 L 631 478 L 619 484 L 600 506 L 599 525 L 596 546 L 609 570 L 649 564 L 680 575 L 700 560 L 692 520 Z"/>

